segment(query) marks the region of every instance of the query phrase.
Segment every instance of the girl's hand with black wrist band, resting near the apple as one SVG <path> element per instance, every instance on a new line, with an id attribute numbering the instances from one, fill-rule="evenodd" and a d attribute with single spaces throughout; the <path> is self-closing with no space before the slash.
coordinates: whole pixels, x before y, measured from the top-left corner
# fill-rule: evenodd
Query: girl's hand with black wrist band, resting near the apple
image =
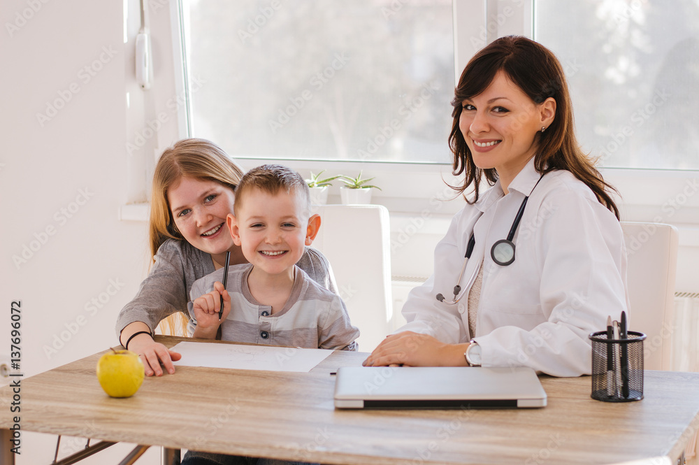
<path id="1" fill-rule="evenodd" d="M 164 344 L 153 341 L 150 328 L 144 322 L 133 322 L 125 327 L 121 340 L 127 341 L 127 349 L 140 355 L 146 376 L 161 376 L 163 369 L 173 374 L 173 360 L 182 358 L 179 352 L 169 350 Z"/>

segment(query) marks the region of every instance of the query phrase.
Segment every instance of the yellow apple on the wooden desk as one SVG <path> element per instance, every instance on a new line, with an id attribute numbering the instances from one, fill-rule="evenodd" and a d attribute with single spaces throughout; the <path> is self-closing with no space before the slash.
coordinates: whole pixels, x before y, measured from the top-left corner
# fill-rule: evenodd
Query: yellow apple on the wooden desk
<path id="1" fill-rule="evenodd" d="M 112 349 L 97 362 L 97 380 L 104 392 L 112 397 L 136 394 L 143 382 L 143 375 L 143 362 L 131 350 Z"/>

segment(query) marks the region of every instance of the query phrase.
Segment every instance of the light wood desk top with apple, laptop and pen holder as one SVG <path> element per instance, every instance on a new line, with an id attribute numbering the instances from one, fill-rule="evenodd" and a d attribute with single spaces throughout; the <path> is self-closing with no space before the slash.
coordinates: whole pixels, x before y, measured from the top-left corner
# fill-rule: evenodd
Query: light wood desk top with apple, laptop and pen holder
<path id="1" fill-rule="evenodd" d="M 180 366 L 129 399 L 102 391 L 100 355 L 23 379 L 22 430 L 324 464 L 589 465 L 674 463 L 699 425 L 699 373 L 647 371 L 632 403 L 591 399 L 589 377 L 542 377 L 541 409 L 349 411 L 333 407 L 330 372 L 363 354 L 333 353 L 310 373 Z M 0 389 L 3 429 L 11 398 Z"/>

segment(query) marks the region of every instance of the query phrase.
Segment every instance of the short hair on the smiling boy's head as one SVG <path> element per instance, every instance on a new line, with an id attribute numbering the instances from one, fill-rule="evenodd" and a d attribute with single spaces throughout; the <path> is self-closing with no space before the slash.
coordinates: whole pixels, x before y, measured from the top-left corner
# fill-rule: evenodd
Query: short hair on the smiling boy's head
<path id="1" fill-rule="evenodd" d="M 288 166 L 278 164 L 266 164 L 253 168 L 240 180 L 236 187 L 236 201 L 233 204 L 233 212 L 238 214 L 238 208 L 243 202 L 245 193 L 252 188 L 260 189 L 262 192 L 277 194 L 281 189 L 291 194 L 298 192 L 303 196 L 306 210 L 310 210 L 310 191 L 305 180 Z"/>

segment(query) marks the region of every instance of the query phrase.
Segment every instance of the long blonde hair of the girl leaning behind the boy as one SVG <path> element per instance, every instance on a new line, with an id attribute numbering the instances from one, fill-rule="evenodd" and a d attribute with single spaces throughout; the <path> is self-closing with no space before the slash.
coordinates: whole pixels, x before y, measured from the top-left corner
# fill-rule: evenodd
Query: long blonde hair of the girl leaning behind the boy
<path id="1" fill-rule="evenodd" d="M 185 240 L 175 226 L 168 201 L 168 189 L 177 187 L 185 176 L 196 180 L 214 181 L 235 191 L 243 178 L 243 169 L 233 162 L 222 148 L 206 139 L 182 139 L 164 150 L 155 166 L 150 198 L 148 234 L 151 264 L 156 252 L 168 238 Z M 187 317 L 180 312 L 170 315 L 159 326 L 161 330 L 167 327 L 171 334 L 175 334 L 186 328 L 186 325 Z"/>

